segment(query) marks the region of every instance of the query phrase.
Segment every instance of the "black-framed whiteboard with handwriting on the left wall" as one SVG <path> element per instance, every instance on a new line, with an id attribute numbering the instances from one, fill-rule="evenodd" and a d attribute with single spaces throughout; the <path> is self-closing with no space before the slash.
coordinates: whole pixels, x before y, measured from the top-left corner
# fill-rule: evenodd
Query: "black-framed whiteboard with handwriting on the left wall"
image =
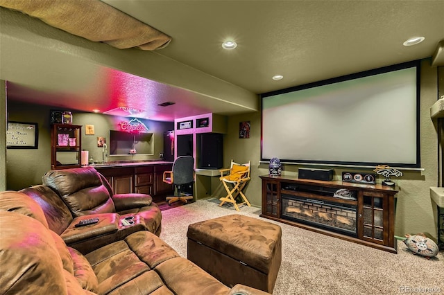
<path id="1" fill-rule="evenodd" d="M 37 123 L 8 122 L 7 148 L 38 148 Z"/>

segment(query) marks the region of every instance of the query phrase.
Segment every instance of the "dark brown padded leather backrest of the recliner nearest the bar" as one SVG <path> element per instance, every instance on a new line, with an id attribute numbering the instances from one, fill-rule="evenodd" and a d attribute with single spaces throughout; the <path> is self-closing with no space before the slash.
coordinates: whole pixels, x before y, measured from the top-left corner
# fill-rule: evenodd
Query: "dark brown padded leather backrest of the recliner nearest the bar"
<path id="1" fill-rule="evenodd" d="M 42 181 L 56 190 L 76 216 L 116 212 L 108 188 L 92 167 L 50 170 Z"/>

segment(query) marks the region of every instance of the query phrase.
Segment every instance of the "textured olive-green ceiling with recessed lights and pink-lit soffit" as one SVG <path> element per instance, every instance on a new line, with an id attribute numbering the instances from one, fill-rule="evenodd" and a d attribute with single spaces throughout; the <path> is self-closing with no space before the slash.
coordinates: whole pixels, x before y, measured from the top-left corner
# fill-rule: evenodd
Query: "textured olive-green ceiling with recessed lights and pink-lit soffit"
<path id="1" fill-rule="evenodd" d="M 258 109 L 256 94 L 431 57 L 444 39 L 444 1 L 102 1 L 171 43 L 116 53 L 8 14 L 19 19 L 0 28 L 11 100 L 84 111 L 126 104 L 154 120 L 239 114 Z M 418 35 L 425 41 L 402 46 Z M 221 48 L 228 38 L 236 49 Z M 166 101 L 176 105 L 157 106 Z"/>

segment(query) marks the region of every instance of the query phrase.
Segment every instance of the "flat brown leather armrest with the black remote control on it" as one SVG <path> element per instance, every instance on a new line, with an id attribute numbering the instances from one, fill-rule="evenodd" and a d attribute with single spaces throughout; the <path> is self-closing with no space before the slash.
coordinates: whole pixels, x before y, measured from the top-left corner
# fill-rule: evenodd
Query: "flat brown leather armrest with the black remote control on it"
<path id="1" fill-rule="evenodd" d="M 99 217 L 99 222 L 87 226 L 76 227 L 81 220 Z M 68 228 L 60 235 L 67 245 L 75 244 L 85 240 L 92 240 L 101 235 L 115 233 L 119 229 L 119 215 L 117 213 L 103 213 L 94 215 L 83 215 L 74 218 Z"/>

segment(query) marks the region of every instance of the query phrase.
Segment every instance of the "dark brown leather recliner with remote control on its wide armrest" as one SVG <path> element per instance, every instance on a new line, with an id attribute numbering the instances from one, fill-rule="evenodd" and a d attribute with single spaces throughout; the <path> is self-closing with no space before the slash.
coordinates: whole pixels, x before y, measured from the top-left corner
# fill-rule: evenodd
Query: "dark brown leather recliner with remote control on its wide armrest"
<path id="1" fill-rule="evenodd" d="M 162 213 L 149 195 L 113 195 L 99 172 L 92 167 L 51 170 L 43 177 L 44 185 L 20 192 L 43 208 L 49 229 L 67 245 L 89 253 L 97 247 L 121 240 L 136 231 L 160 235 Z M 131 218 L 131 224 L 123 220 Z M 80 221 L 98 218 L 96 224 L 76 227 Z"/>

